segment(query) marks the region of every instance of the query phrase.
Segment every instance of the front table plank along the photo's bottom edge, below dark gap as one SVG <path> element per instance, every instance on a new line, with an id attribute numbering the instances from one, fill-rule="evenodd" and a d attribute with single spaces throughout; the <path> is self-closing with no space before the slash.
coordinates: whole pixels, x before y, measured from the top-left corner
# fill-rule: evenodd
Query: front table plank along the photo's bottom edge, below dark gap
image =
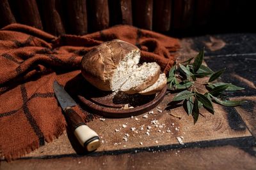
<path id="1" fill-rule="evenodd" d="M 20 159 L 1 169 L 255 169 L 256 158 L 236 146 L 183 148 L 114 155 Z"/>

